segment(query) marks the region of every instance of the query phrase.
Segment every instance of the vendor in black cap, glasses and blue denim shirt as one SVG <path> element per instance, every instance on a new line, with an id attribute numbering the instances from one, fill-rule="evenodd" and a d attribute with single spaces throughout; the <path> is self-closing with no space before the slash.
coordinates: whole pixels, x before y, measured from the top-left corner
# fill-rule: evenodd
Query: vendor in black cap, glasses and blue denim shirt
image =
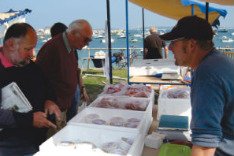
<path id="1" fill-rule="evenodd" d="M 210 24 L 197 16 L 180 19 L 169 50 L 176 64 L 192 68 L 192 155 L 234 154 L 234 61 L 214 48 Z"/>

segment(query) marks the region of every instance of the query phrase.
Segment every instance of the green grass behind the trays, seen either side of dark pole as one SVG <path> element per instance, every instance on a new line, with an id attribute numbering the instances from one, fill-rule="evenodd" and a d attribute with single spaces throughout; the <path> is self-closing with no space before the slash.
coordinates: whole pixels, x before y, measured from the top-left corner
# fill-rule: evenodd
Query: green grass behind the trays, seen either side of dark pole
<path id="1" fill-rule="evenodd" d="M 113 84 L 123 81 L 126 82 L 126 69 L 114 69 L 112 74 L 114 77 Z M 109 82 L 107 81 L 106 77 L 103 76 L 103 71 L 99 69 L 84 70 L 82 71 L 82 75 L 86 91 L 88 92 L 90 97 L 90 101 L 93 101 L 97 98 L 97 95 L 103 91 L 105 84 L 108 84 Z"/>

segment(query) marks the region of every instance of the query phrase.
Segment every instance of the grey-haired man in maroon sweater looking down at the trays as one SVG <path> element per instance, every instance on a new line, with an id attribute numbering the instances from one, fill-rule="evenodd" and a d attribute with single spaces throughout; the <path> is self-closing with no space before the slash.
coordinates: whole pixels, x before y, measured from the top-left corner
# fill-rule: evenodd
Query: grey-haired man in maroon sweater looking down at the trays
<path id="1" fill-rule="evenodd" d="M 57 104 L 63 111 L 63 122 L 66 122 L 66 111 L 70 108 L 78 83 L 78 63 L 74 51 L 81 50 L 92 40 L 92 28 L 86 20 L 73 21 L 66 32 L 56 35 L 40 49 L 36 63 L 42 68 L 56 91 Z M 80 86 L 84 92 L 84 86 Z"/>

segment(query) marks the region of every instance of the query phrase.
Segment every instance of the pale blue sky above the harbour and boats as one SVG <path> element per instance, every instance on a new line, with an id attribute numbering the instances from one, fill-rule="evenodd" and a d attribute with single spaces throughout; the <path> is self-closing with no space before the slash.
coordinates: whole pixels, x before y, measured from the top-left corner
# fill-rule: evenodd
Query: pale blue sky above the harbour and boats
<path id="1" fill-rule="evenodd" d="M 111 27 L 125 28 L 125 0 L 110 0 Z M 9 9 L 24 10 L 27 22 L 36 29 L 51 26 L 55 22 L 69 24 L 75 19 L 87 19 L 93 28 L 104 28 L 106 20 L 106 0 L 0 0 L 0 12 Z M 216 5 L 218 6 L 218 5 Z M 221 26 L 234 27 L 234 6 L 221 6 L 228 11 L 225 19 L 221 17 Z M 141 8 L 129 2 L 129 26 L 141 27 Z M 145 11 L 145 25 L 173 26 L 175 20 Z"/>

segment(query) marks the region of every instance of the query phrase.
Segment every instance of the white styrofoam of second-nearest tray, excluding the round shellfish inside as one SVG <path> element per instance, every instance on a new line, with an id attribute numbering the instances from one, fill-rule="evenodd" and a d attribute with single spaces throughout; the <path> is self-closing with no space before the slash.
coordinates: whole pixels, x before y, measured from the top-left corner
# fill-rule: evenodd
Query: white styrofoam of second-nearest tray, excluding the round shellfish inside
<path id="1" fill-rule="evenodd" d="M 99 116 L 99 119 L 106 121 L 107 123 L 104 125 L 98 125 L 91 122 L 91 120 L 87 119 L 88 115 L 96 114 Z M 110 125 L 110 120 L 114 117 L 121 117 L 124 119 L 124 122 L 130 118 L 136 118 L 140 120 L 138 126 L 136 128 L 129 128 L 122 126 L 112 126 Z M 127 131 L 133 133 L 143 133 L 144 135 L 147 134 L 149 127 L 150 120 L 146 120 L 145 113 L 142 111 L 129 111 L 129 110 L 121 110 L 121 109 L 107 109 L 107 108 L 97 108 L 97 107 L 88 107 L 85 108 L 83 111 L 78 113 L 75 117 L 73 117 L 68 124 L 71 125 L 81 125 L 81 126 L 88 126 L 91 128 L 100 127 L 110 130 L 117 130 L 117 131 Z"/>

